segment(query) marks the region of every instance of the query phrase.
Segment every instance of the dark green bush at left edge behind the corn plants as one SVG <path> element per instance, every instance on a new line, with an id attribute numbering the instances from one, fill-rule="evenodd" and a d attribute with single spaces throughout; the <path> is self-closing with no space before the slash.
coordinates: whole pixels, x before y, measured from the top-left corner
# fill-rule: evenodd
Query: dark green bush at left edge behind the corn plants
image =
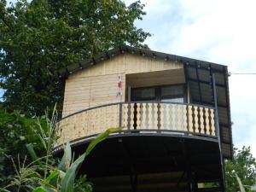
<path id="1" fill-rule="evenodd" d="M 44 127 L 45 119 L 40 119 L 40 122 Z M 0 105 L 0 187 L 7 186 L 17 170 L 21 170 L 20 174 L 25 171 L 23 160 L 26 159 L 26 143 L 32 143 L 38 151 L 42 150 L 43 146 L 34 134 L 38 130 L 37 123 L 37 119 L 27 119 L 18 111 L 7 113 Z M 20 166 L 12 166 L 12 160 Z M 20 160 L 23 163 L 19 163 Z"/>

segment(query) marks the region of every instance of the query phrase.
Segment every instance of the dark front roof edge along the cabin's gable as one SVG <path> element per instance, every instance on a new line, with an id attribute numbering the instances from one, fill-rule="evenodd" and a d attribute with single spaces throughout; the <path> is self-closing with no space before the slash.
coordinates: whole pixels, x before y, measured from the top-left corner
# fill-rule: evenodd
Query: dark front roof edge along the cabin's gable
<path id="1" fill-rule="evenodd" d="M 162 59 L 165 61 L 177 61 L 177 62 L 181 62 L 183 64 L 187 63 L 187 64 L 203 66 L 203 67 L 213 65 L 215 67 L 222 68 L 222 69 L 226 68 L 225 65 L 220 65 L 220 64 L 212 63 L 212 62 L 208 62 L 208 61 L 201 61 L 201 60 L 192 59 L 189 57 L 166 54 L 166 53 L 162 53 L 162 52 L 158 52 L 158 51 L 154 51 L 154 50 L 150 50 L 150 49 L 141 49 L 141 48 L 131 47 L 128 45 L 121 45 L 119 47 L 109 49 L 108 51 L 102 52 L 101 54 L 96 55 L 90 59 L 80 61 L 77 64 L 63 67 L 60 70 L 58 70 L 55 74 L 58 75 L 60 78 L 67 78 L 72 73 L 76 73 L 84 68 L 93 66 L 96 63 L 99 63 L 102 61 L 106 61 L 115 55 L 120 55 L 125 52 L 131 53 L 134 55 L 147 56 L 147 57 L 155 58 L 155 59 Z"/>

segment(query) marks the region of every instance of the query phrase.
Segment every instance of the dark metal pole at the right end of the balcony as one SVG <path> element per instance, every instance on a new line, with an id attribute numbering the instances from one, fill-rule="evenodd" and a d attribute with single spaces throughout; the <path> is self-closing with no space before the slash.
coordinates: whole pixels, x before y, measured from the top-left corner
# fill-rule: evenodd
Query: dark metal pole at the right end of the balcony
<path id="1" fill-rule="evenodd" d="M 215 126 L 216 126 L 216 133 L 218 137 L 218 150 L 219 150 L 219 161 L 221 165 L 221 189 L 224 192 L 225 191 L 225 175 L 224 175 L 224 160 L 222 155 L 222 148 L 221 148 L 221 139 L 220 139 L 220 130 L 219 130 L 219 122 L 218 122 L 218 99 L 217 99 L 217 90 L 216 90 L 216 81 L 215 81 L 215 75 L 212 73 L 212 88 L 213 88 L 213 97 L 214 97 L 214 108 L 215 108 Z"/>

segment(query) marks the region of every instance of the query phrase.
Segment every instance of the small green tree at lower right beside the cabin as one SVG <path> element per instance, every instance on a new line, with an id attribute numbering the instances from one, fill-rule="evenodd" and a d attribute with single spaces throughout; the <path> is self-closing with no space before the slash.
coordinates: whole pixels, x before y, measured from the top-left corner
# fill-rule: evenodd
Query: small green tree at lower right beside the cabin
<path id="1" fill-rule="evenodd" d="M 256 161 L 253 154 L 251 154 L 250 147 L 243 146 L 241 150 L 234 148 L 234 152 L 234 160 L 225 161 L 227 192 L 240 190 L 236 174 L 245 187 L 256 184 Z M 247 189 L 250 188 L 247 187 Z"/>

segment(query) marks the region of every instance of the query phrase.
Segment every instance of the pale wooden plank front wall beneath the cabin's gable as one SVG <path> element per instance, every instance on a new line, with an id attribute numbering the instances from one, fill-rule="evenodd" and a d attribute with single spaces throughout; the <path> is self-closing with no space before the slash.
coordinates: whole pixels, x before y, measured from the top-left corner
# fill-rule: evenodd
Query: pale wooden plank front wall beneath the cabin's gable
<path id="1" fill-rule="evenodd" d="M 102 104 L 125 101 L 125 75 L 181 69 L 177 62 L 156 60 L 139 55 L 117 55 L 95 66 L 73 73 L 66 80 L 62 117 Z M 118 76 L 124 88 L 122 98 L 116 97 Z M 167 76 L 166 76 L 167 77 Z M 170 76 L 168 76 L 170 78 Z M 183 78 L 178 83 L 183 83 Z"/>

